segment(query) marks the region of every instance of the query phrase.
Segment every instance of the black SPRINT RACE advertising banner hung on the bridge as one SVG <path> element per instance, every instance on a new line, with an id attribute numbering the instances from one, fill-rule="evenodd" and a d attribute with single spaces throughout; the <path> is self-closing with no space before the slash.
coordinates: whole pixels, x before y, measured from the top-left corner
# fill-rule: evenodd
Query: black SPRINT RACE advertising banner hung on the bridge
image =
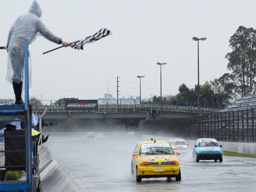
<path id="1" fill-rule="evenodd" d="M 67 110 L 96 110 L 98 100 L 65 100 Z"/>

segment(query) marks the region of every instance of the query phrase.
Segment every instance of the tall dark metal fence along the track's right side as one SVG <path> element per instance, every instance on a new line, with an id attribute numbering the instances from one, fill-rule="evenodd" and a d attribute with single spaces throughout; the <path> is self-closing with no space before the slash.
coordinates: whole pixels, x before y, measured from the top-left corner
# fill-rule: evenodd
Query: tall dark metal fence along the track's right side
<path id="1" fill-rule="evenodd" d="M 163 130 L 184 138 L 216 138 L 220 141 L 256 142 L 255 109 L 209 113 L 193 118 L 149 120 L 149 130 Z"/>

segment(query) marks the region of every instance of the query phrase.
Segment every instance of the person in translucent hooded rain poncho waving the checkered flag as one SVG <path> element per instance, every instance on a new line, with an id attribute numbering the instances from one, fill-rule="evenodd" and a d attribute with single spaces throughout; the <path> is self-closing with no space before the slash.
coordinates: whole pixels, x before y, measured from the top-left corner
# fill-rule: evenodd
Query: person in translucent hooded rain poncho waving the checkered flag
<path id="1" fill-rule="evenodd" d="M 56 44 L 62 44 L 65 47 L 68 42 L 63 42 L 61 38 L 54 35 L 45 27 L 40 17 L 42 10 L 37 3 L 33 1 L 29 12 L 21 15 L 15 20 L 9 31 L 6 49 L 8 51 L 8 68 L 6 80 L 13 84 L 15 93 L 15 104 L 22 104 L 22 81 L 24 76 L 24 43 L 28 41 L 31 44 L 36 38 L 36 34 L 42 36 Z M 29 78 L 31 79 L 31 78 Z"/>

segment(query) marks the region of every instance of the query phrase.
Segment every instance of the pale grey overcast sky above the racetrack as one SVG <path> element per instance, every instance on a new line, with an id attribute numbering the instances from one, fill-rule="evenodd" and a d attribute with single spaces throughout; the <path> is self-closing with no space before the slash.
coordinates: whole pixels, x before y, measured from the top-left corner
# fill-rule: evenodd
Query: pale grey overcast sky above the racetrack
<path id="1" fill-rule="evenodd" d="M 19 15 L 28 12 L 30 0 L 1 0 L 0 45 Z M 197 45 L 200 42 L 200 83 L 227 72 L 228 40 L 239 26 L 255 28 L 256 1 L 234 0 L 38 0 L 45 25 L 63 40 L 72 42 L 93 35 L 100 28 L 113 32 L 84 51 L 70 47 L 42 55 L 57 44 L 38 37 L 29 46 L 32 59 L 30 95 L 38 99 L 78 97 L 97 99 L 109 93 L 116 97 L 120 76 L 120 97 L 160 94 L 163 67 L 163 95 L 175 95 L 179 85 L 197 83 Z M 7 53 L 0 50 L 0 99 L 14 98 L 5 80 Z"/>

